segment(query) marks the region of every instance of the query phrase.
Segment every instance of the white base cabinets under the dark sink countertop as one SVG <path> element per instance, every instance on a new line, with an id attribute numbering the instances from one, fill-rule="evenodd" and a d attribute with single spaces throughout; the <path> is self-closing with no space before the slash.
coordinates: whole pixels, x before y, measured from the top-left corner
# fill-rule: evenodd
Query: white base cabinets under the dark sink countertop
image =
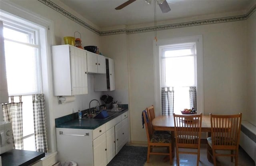
<path id="1" fill-rule="evenodd" d="M 56 128 L 58 160 L 106 166 L 129 140 L 128 111 L 94 130 Z"/>

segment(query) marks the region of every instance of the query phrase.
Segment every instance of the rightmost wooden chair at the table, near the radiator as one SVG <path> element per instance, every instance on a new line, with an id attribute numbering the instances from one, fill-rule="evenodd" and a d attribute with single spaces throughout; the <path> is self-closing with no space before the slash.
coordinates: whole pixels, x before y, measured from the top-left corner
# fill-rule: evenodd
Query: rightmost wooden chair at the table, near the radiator
<path id="1" fill-rule="evenodd" d="M 217 165 L 216 156 L 231 156 L 231 162 L 234 157 L 235 166 L 237 166 L 242 113 L 238 115 L 212 115 L 210 113 L 210 120 L 211 137 L 208 137 L 207 141 L 212 151 L 207 152 L 213 157 L 214 166 Z M 225 153 L 226 150 L 230 150 L 230 153 Z"/>

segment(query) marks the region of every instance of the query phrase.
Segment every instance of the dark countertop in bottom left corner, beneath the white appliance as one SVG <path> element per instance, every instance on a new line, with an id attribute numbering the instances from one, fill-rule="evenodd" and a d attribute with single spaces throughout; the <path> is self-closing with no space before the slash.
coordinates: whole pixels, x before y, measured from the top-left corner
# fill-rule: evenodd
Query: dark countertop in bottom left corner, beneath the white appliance
<path id="1" fill-rule="evenodd" d="M 44 152 L 12 149 L 0 155 L 2 166 L 28 166 L 45 156 Z"/>

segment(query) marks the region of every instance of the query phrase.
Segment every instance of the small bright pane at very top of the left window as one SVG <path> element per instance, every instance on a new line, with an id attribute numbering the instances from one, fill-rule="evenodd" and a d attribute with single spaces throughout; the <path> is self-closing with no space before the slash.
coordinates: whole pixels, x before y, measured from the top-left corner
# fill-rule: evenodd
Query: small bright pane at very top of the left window
<path id="1" fill-rule="evenodd" d="M 29 43 L 29 35 L 4 27 L 4 38 Z"/>

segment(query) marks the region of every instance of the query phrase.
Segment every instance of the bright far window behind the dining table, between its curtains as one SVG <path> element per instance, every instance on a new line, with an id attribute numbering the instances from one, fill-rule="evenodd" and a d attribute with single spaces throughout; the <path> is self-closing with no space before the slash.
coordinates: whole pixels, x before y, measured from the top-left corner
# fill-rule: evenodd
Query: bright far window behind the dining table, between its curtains
<path id="1" fill-rule="evenodd" d="M 179 43 L 161 47 L 161 83 L 162 87 L 172 87 L 174 91 L 174 113 L 190 109 L 189 87 L 196 87 L 195 45 Z"/>

